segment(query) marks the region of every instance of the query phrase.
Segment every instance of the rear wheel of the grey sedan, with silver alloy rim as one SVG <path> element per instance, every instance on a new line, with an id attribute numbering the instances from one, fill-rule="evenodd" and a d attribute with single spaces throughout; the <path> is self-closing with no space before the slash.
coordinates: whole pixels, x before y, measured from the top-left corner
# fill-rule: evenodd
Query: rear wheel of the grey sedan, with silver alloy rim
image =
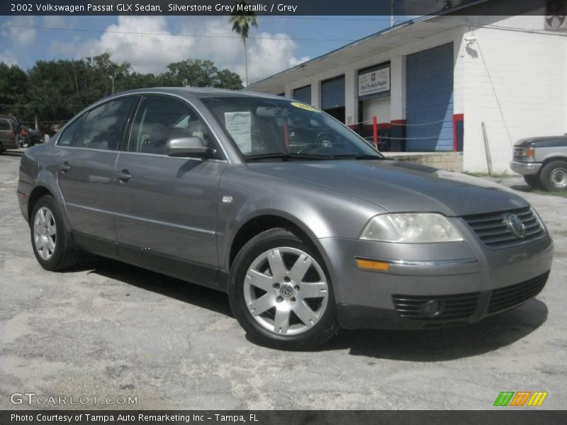
<path id="1" fill-rule="evenodd" d="M 31 245 L 38 263 L 50 271 L 72 267 L 77 261 L 77 251 L 55 199 L 49 195 L 38 199 L 31 217 Z"/>

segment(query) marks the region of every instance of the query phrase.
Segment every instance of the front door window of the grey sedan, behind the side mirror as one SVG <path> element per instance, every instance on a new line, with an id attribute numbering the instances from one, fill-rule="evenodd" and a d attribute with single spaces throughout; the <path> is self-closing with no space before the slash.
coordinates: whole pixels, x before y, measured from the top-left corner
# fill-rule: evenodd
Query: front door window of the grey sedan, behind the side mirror
<path id="1" fill-rule="evenodd" d="M 216 150 L 214 159 L 223 159 L 216 140 L 192 108 L 164 96 L 145 96 L 137 108 L 128 152 L 165 155 L 167 142 L 181 137 L 200 137 Z"/>

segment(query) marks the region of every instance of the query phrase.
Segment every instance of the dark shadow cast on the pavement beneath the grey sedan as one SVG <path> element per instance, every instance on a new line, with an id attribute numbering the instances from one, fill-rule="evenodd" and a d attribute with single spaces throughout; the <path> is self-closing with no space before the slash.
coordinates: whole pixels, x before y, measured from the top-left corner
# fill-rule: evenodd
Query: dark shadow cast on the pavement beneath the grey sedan
<path id="1" fill-rule="evenodd" d="M 89 271 L 233 317 L 228 295 L 120 261 L 84 256 L 70 271 Z M 398 361 L 449 361 L 515 344 L 547 319 L 544 302 L 532 299 L 515 310 L 459 327 L 422 330 L 341 329 L 318 351 L 348 349 L 352 356 Z"/>

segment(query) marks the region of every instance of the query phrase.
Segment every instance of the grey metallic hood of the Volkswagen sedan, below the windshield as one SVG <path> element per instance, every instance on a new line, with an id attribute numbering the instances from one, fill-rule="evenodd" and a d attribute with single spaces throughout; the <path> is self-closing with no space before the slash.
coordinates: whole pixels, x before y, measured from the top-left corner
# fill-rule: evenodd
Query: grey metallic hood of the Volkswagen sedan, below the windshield
<path id="1" fill-rule="evenodd" d="M 507 188 L 430 166 L 377 161 L 258 162 L 249 168 L 290 184 L 324 186 L 379 205 L 390 212 L 469 215 L 529 205 Z M 262 176 L 259 176 L 261 179 Z"/>

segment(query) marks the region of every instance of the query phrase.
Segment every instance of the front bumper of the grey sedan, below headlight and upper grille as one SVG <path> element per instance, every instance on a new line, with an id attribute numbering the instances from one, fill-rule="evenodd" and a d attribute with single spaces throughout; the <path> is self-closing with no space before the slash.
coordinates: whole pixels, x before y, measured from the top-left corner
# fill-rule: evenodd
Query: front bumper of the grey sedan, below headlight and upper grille
<path id="1" fill-rule="evenodd" d="M 472 235 L 466 240 L 388 244 L 320 239 L 331 265 L 341 326 L 420 329 L 478 322 L 517 307 L 544 287 L 553 256 L 547 233 L 505 249 L 488 249 Z M 391 263 L 388 271 L 365 271 L 355 257 Z"/>

